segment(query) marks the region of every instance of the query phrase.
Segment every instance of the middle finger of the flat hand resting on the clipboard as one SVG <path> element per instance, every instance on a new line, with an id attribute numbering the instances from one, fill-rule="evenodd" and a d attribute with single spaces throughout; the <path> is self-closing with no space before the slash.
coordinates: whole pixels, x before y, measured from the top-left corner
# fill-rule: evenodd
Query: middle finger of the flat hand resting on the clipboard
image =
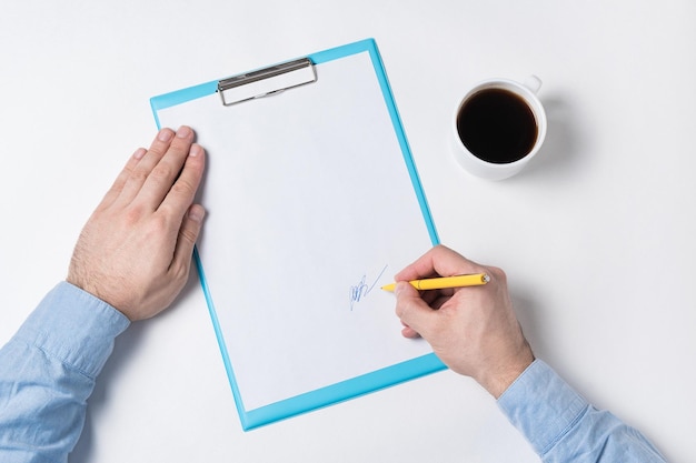
<path id="1" fill-rule="evenodd" d="M 147 177 L 136 201 L 146 204 L 151 210 L 159 208 L 175 182 L 178 182 L 177 179 L 180 178 L 181 169 L 191 154 L 192 143 L 193 131 L 186 125 L 179 128 L 169 149 Z"/>

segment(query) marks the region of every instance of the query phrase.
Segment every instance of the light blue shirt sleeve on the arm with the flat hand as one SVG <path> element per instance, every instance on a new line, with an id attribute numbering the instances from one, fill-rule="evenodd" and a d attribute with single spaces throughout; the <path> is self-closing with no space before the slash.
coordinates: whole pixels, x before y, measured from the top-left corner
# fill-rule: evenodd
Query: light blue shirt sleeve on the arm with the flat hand
<path id="1" fill-rule="evenodd" d="M 0 461 L 66 462 L 87 399 L 129 320 L 59 283 L 0 350 Z"/>

